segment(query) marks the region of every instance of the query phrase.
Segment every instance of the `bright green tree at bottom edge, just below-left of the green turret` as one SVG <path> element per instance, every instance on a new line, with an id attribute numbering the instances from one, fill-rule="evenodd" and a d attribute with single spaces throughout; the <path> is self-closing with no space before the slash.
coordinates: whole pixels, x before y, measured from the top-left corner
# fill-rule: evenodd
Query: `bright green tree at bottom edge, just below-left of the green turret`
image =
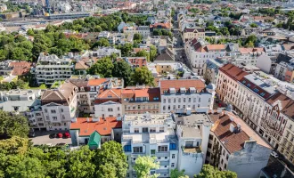
<path id="1" fill-rule="evenodd" d="M 94 177 L 95 165 L 92 162 L 94 152 L 89 150 L 88 146 L 83 146 L 78 150 L 69 152 L 68 176 L 72 178 L 88 178 Z"/>

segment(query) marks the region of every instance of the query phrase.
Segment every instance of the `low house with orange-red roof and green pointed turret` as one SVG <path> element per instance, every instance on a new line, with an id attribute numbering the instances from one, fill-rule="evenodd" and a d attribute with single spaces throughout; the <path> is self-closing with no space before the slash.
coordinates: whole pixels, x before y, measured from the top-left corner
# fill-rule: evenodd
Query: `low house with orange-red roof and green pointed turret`
<path id="1" fill-rule="evenodd" d="M 103 142 L 120 141 L 121 120 L 117 117 L 76 117 L 71 120 L 69 133 L 73 145 L 100 149 Z"/>

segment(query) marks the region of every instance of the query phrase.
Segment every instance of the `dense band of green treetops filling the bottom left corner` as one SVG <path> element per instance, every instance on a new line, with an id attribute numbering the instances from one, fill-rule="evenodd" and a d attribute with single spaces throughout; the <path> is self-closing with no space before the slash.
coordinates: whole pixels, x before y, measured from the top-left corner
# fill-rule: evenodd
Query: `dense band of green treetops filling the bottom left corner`
<path id="1" fill-rule="evenodd" d="M 126 177 L 127 158 L 118 142 L 106 142 L 101 150 L 88 146 L 69 151 L 65 147 L 32 147 L 28 139 L 0 141 L 0 177 L 94 178 Z"/>

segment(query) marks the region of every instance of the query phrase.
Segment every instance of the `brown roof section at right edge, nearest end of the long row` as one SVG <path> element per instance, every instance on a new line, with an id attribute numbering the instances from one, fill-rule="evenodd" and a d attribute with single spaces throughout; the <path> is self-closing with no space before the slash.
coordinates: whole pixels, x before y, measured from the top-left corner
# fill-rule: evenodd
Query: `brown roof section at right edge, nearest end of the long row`
<path id="1" fill-rule="evenodd" d="M 292 119 L 294 119 L 294 101 L 291 100 L 288 96 L 282 93 L 275 93 L 270 97 L 267 102 L 274 104 L 275 101 L 281 101 L 282 104 L 282 113 Z"/>

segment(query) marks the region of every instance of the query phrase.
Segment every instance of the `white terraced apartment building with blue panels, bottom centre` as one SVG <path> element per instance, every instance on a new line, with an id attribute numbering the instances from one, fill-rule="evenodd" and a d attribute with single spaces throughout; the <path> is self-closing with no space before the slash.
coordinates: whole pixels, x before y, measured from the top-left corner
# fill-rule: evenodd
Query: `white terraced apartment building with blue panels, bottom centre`
<path id="1" fill-rule="evenodd" d="M 139 156 L 156 157 L 159 169 L 151 174 L 170 177 L 170 170 L 177 166 L 178 144 L 175 122 L 169 114 L 137 114 L 122 117 L 121 144 L 127 155 L 127 177 L 136 177 L 135 159 Z"/>

